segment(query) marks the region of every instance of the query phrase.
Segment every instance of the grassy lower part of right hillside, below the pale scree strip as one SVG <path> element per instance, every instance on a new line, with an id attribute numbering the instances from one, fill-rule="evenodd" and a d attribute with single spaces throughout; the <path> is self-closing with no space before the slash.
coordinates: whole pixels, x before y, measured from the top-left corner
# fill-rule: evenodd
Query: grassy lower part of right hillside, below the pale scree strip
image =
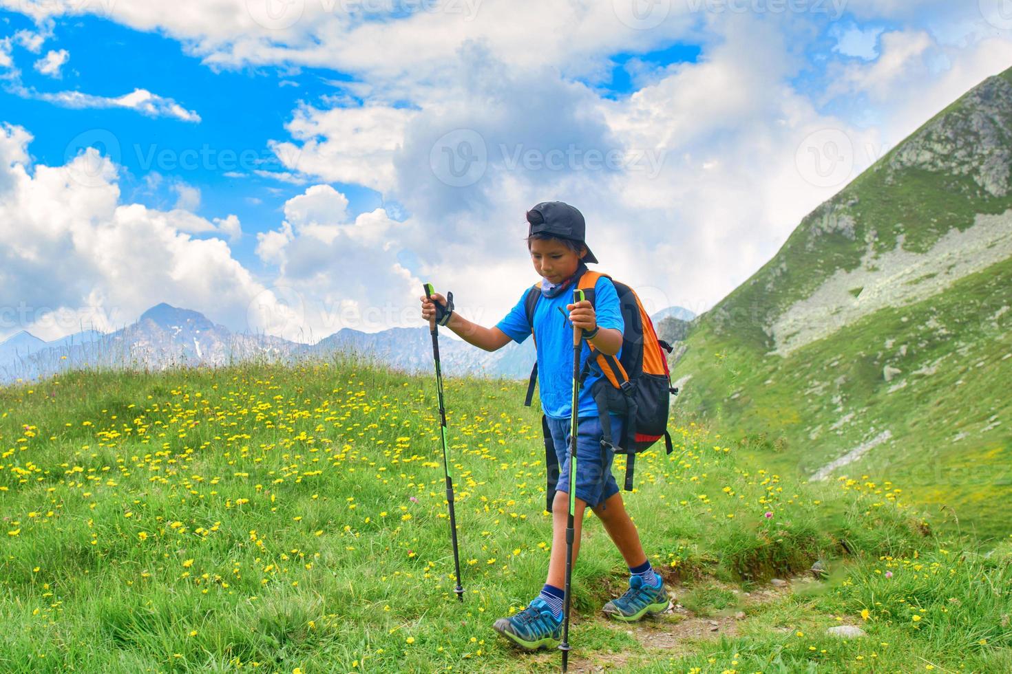
<path id="1" fill-rule="evenodd" d="M 785 359 L 756 361 L 702 324 L 674 369 L 675 378 L 692 375 L 676 409 L 734 428 L 742 451 L 797 479 L 889 429 L 893 443 L 838 473 L 902 483 L 911 500 L 945 507 L 946 525 L 1003 537 L 1012 527 L 1004 506 L 1012 497 L 1012 429 L 994 420 L 1012 412 L 1004 385 L 1012 312 L 989 317 L 1012 301 L 1009 287 L 1012 260 L 939 296 L 865 316 Z M 918 374 L 933 364 L 933 374 Z M 887 365 L 902 371 L 892 382 L 882 376 Z M 851 420 L 841 423 L 847 414 Z"/>

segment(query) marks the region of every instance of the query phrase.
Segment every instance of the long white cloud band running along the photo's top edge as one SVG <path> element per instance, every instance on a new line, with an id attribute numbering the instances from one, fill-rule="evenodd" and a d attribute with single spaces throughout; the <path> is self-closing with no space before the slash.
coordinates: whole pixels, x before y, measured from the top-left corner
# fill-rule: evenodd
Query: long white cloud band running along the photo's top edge
<path id="1" fill-rule="evenodd" d="M 343 11 L 348 4 L 365 8 L 364 12 Z M 213 68 L 296 65 L 353 73 L 362 90 L 383 93 L 388 101 L 417 101 L 417 90 L 425 87 L 430 88 L 429 99 L 437 98 L 434 85 L 454 77 L 447 63 L 469 43 L 483 44 L 508 68 L 554 64 L 573 76 L 600 75 L 608 55 L 648 51 L 683 37 L 699 16 L 672 3 L 660 25 L 638 30 L 619 19 L 611 2 L 409 2 L 404 6 L 417 11 L 396 19 L 369 9 L 387 4 L 0 0 L 0 6 L 36 19 L 94 13 L 138 30 L 162 31 Z M 268 8 L 273 13 L 265 11 Z M 374 20 L 380 18 L 384 20 Z"/>

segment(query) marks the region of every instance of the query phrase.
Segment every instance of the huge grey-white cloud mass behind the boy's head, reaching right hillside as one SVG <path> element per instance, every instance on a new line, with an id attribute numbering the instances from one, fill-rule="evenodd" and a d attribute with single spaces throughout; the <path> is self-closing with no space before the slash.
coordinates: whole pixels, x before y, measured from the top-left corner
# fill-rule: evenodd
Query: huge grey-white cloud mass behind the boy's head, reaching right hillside
<path id="1" fill-rule="evenodd" d="M 908 116 L 906 103 L 886 95 L 890 87 L 903 83 L 905 99 L 917 108 L 924 96 L 914 87 L 946 79 L 915 69 L 930 57 L 924 31 L 882 35 L 879 59 L 840 77 L 852 90 L 874 92 L 890 120 L 867 127 L 821 111 L 820 101 L 789 84 L 804 62 L 791 43 L 794 33 L 782 24 L 751 14 L 710 18 L 698 63 L 671 66 L 616 100 L 556 68 L 503 61 L 485 42 L 460 46 L 439 98 L 427 99 L 420 89 L 423 102 L 403 132 L 392 133 L 401 146 L 393 155 L 396 184 L 382 191 L 412 214 L 398 243 L 418 261 L 418 273 L 463 289 L 459 301 L 494 322 L 516 301 L 518 289 L 535 280 L 522 242 L 524 210 L 562 199 L 587 217 L 602 270 L 648 288 L 657 308 L 681 304 L 703 311 L 747 280 L 807 213 L 876 161 L 890 141 L 913 130 L 898 129 L 927 118 L 923 108 Z M 988 50 L 1000 52 L 997 45 Z M 976 60 L 969 52 L 951 58 Z M 945 103 L 983 75 L 956 79 L 962 88 Z M 928 88 L 927 98 L 935 100 Z M 311 140 L 301 147 L 300 168 L 327 166 L 320 149 L 331 141 L 362 155 L 368 146 L 355 141 L 374 142 L 377 150 L 392 145 L 367 133 L 349 140 L 349 124 L 323 121 L 353 114 L 300 109 L 301 132 Z M 829 181 L 809 154 L 824 152 L 827 138 L 850 149 L 845 171 Z M 463 167 L 479 146 L 476 180 L 454 182 L 445 165 L 435 168 L 442 151 Z M 570 161 L 571 148 L 583 151 L 583 159 Z M 589 150 L 615 152 L 622 161 L 614 170 L 593 168 Z M 524 161 L 528 152 L 535 162 Z M 563 158 L 556 168 L 546 166 L 553 153 Z M 308 173 L 338 179 L 323 168 Z M 376 188 L 371 173 L 340 180 Z M 264 235 L 264 261 L 291 264 L 282 251 L 301 236 L 293 225 Z"/>

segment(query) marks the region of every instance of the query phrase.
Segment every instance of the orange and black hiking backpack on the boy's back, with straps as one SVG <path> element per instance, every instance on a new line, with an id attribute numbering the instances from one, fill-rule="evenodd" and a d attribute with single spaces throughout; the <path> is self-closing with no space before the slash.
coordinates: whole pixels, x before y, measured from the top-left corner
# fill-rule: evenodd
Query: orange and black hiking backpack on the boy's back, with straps
<path id="1" fill-rule="evenodd" d="M 590 361 L 593 359 L 600 367 L 603 377 L 591 386 L 591 396 L 597 403 L 601 420 L 601 452 L 611 448 L 616 455 L 625 455 L 625 491 L 632 491 L 632 470 L 636 455 L 649 449 L 657 441 L 664 439 L 667 453 L 671 454 L 671 436 L 668 432 L 668 408 L 670 395 L 677 394 L 678 389 L 671 386 L 671 375 L 668 370 L 668 359 L 664 352 L 671 353 L 672 347 L 667 342 L 658 339 L 650 314 L 636 291 L 624 283 L 619 283 L 607 274 L 585 271 L 577 279 L 576 287 L 584 291 L 591 304 L 595 303 L 594 286 L 601 277 L 611 280 L 618 294 L 624 329 L 622 330 L 621 357 L 607 356 L 598 352 L 593 345 L 590 347 L 590 357 L 584 361 L 580 373 L 580 384 L 583 385 L 590 374 Z M 527 322 L 531 326 L 531 336 L 534 330 L 534 308 L 541 298 L 540 282 L 532 286 L 524 297 L 524 309 Z M 530 381 L 527 385 L 527 397 L 524 405 L 530 406 L 534 396 L 534 385 L 537 381 L 537 363 L 530 371 Z M 608 412 L 614 412 L 625 417 L 625 432 L 617 443 L 611 438 L 611 422 Z M 547 419 L 541 415 L 541 430 L 544 435 L 544 459 L 549 469 L 546 503 L 552 510 L 555 498 L 556 480 L 559 477 L 559 459 L 556 456 L 552 434 L 549 430 Z"/>

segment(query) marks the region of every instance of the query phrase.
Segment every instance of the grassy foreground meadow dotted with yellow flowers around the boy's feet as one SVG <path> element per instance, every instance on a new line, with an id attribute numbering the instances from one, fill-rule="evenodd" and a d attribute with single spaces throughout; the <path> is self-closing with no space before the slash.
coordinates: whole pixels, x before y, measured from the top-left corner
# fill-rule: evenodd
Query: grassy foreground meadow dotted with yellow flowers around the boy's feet
<path id="1" fill-rule="evenodd" d="M 558 653 L 517 654 L 491 629 L 540 588 L 552 540 L 539 419 L 523 388 L 446 380 L 462 604 L 431 378 L 337 360 L 74 371 L 0 389 L 0 670 L 555 671 Z M 907 603 L 874 617 L 892 649 L 830 641 L 822 627 L 881 592 L 879 556 L 899 577 L 915 555 L 948 544 L 925 536 L 893 490 L 802 484 L 715 430 L 672 430 L 675 453 L 638 461 L 625 499 L 652 562 L 687 588 L 686 601 L 721 612 L 731 596 L 706 588 L 745 591 L 816 559 L 845 580 L 819 599 L 750 607 L 735 639 L 652 650 L 640 641 L 649 625 L 630 634 L 600 617 L 627 576 L 589 521 L 574 572 L 575 658 L 627 671 L 722 671 L 736 653 L 739 671 L 766 672 L 852 671 L 872 652 L 890 671 L 910 654 L 953 670 L 1008 662 L 1000 615 L 1012 605 L 996 575 L 1007 548 L 959 567 L 966 580 L 944 577 L 931 597 L 920 579 L 903 585 Z M 995 592 L 987 603 L 974 584 L 982 574 Z M 959 619 L 910 631 L 903 608 L 916 597 L 939 611 L 947 592 L 963 601 Z M 668 617 L 655 628 L 677 629 Z M 790 634 L 771 633 L 777 624 Z M 813 637 L 791 637 L 798 629 Z"/>

